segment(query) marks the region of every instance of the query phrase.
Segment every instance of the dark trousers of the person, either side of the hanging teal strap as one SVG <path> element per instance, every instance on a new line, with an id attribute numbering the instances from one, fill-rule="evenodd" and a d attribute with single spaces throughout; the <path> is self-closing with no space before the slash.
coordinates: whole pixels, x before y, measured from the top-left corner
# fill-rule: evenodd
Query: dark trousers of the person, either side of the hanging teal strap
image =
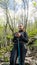
<path id="1" fill-rule="evenodd" d="M 21 65 L 25 65 L 25 56 L 26 56 L 27 49 L 25 49 L 24 44 L 20 44 L 20 62 Z M 16 65 L 16 59 L 18 57 L 18 45 L 15 44 L 14 48 L 11 51 L 11 56 L 10 56 L 10 65 Z"/>

